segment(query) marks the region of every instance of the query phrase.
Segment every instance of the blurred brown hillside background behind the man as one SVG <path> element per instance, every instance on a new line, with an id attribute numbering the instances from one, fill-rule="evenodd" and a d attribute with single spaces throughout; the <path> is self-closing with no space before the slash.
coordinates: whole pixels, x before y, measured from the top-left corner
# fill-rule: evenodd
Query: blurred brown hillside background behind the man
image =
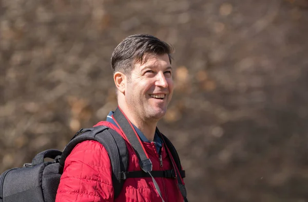
<path id="1" fill-rule="evenodd" d="M 110 57 L 126 36 L 174 45 L 160 130 L 191 202 L 308 201 L 308 1 L 0 3 L 0 171 L 117 106 Z"/>

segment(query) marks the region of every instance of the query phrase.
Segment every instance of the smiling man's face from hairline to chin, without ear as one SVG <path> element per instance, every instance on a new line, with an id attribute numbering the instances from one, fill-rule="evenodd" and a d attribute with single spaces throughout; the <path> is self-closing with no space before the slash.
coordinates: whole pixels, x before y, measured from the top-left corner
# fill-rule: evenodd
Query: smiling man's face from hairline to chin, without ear
<path id="1" fill-rule="evenodd" d="M 146 54 L 142 64 L 134 64 L 127 79 L 125 99 L 130 112 L 142 120 L 161 119 L 174 90 L 168 54 Z"/>

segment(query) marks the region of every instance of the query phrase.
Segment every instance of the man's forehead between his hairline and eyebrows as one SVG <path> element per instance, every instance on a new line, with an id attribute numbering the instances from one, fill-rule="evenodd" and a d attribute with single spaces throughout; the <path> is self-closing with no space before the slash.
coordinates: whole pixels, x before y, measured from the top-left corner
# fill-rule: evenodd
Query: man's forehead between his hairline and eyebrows
<path id="1" fill-rule="evenodd" d="M 170 60 L 168 54 L 154 54 L 146 53 L 142 62 L 136 62 L 135 68 L 146 67 L 170 67 Z"/>

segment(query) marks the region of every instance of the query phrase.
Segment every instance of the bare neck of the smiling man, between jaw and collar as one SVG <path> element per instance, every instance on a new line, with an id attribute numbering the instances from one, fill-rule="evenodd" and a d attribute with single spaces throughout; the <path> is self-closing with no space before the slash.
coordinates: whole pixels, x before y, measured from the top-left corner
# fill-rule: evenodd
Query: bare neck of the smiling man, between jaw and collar
<path id="1" fill-rule="evenodd" d="M 142 120 L 139 117 L 134 116 L 134 114 L 131 113 L 127 107 L 120 106 L 120 108 L 122 109 L 123 113 L 126 115 L 128 120 L 136 127 L 138 127 L 139 130 L 150 142 L 153 141 L 157 126 L 157 121 Z"/>

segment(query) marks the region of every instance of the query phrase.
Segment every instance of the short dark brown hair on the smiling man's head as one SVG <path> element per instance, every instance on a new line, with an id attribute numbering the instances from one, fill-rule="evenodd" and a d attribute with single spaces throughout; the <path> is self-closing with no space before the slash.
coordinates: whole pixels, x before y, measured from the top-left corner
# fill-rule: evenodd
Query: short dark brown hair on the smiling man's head
<path id="1" fill-rule="evenodd" d="M 168 54 L 171 64 L 171 53 L 174 48 L 149 34 L 135 34 L 125 38 L 113 51 L 111 57 L 112 72 L 121 71 L 130 74 L 136 62 L 142 63 L 146 53 Z"/>

